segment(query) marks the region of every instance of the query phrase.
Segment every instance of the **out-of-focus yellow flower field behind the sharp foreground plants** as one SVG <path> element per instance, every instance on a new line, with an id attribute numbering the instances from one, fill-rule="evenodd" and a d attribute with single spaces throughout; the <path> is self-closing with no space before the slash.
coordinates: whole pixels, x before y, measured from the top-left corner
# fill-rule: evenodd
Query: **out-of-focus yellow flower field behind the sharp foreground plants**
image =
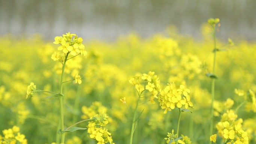
<path id="1" fill-rule="evenodd" d="M 106 128 L 113 142 L 128 144 L 138 99 L 129 80 L 136 74 L 154 71 L 161 89 L 174 82 L 190 90 L 194 108 L 188 108 L 192 113 L 182 113 L 179 134 L 188 136 L 192 144 L 209 143 L 211 79 L 206 74 L 212 71 L 214 47 L 208 33 L 207 27 L 202 28 L 201 40 L 169 30 L 168 34 L 149 38 L 131 33 L 115 42 L 83 42 L 87 58 L 76 56 L 65 67 L 64 81 L 73 79 L 77 73 L 82 77 L 80 85 L 75 81 L 64 83 L 65 127 L 104 112 L 109 116 Z M 58 48 L 53 42 L 54 37 L 46 41 L 39 35 L 0 37 L 0 140 L 12 129 L 17 144 L 56 142 L 60 129 L 59 99 L 47 98 L 49 94 L 39 92 L 26 99 L 30 82 L 41 90 L 59 92 L 62 65 L 51 59 Z M 228 44 L 228 40 L 217 39 L 216 43 L 219 48 Z M 245 40 L 234 43 L 217 52 L 213 134 L 217 134 L 216 143 L 223 143 L 222 122 L 241 124 L 240 129 L 247 132 L 249 143 L 253 144 L 256 143 L 256 43 Z M 143 112 L 134 130 L 134 144 L 165 144 L 167 132 L 172 129 L 176 132 L 179 110 L 175 108 L 164 114 L 158 98 L 142 99 L 138 115 Z M 78 124 L 84 128 L 87 125 Z M 23 136 L 27 141 L 19 142 Z M 12 134 L 7 136 L 10 137 Z M 66 132 L 65 143 L 96 144 L 87 130 Z"/>

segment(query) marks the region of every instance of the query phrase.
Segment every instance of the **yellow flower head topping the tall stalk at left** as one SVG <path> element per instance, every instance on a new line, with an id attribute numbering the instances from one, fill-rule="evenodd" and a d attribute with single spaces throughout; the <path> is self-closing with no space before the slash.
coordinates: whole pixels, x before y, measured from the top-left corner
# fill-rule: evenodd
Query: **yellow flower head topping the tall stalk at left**
<path id="1" fill-rule="evenodd" d="M 54 44 L 60 44 L 61 46 L 58 47 L 58 50 L 63 51 L 63 53 L 65 54 L 70 53 L 73 56 L 79 54 L 82 56 L 86 56 L 87 52 L 82 42 L 82 37 L 77 37 L 76 34 L 70 34 L 70 32 L 68 32 L 66 34 L 63 34 L 63 36 L 55 37 Z M 52 59 L 54 61 L 63 61 L 63 58 L 64 57 L 63 55 L 61 55 L 61 52 L 54 52 L 54 54 L 52 54 Z"/>

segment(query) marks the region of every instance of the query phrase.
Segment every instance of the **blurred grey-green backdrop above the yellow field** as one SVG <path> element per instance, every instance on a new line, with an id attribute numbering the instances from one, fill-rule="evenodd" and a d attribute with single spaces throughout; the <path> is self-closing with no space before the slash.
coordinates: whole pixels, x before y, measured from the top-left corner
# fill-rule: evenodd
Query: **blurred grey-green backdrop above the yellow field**
<path id="1" fill-rule="evenodd" d="M 84 39 L 141 37 L 174 25 L 201 36 L 201 25 L 220 18 L 220 37 L 256 38 L 256 0 L 0 0 L 0 35 L 40 33 L 44 39 L 70 31 Z"/>

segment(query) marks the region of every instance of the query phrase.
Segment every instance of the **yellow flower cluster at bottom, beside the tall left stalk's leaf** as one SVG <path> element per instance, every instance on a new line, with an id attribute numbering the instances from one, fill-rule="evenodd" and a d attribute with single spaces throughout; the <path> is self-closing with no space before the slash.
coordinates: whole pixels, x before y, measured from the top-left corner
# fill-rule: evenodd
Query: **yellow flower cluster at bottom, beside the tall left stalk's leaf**
<path id="1" fill-rule="evenodd" d="M 111 133 L 108 132 L 106 128 L 102 126 L 107 125 L 108 116 L 105 113 L 96 114 L 95 116 L 91 117 L 92 121 L 88 124 L 87 132 L 90 134 L 90 138 L 97 141 L 97 144 L 104 144 L 104 143 L 113 143 Z"/>

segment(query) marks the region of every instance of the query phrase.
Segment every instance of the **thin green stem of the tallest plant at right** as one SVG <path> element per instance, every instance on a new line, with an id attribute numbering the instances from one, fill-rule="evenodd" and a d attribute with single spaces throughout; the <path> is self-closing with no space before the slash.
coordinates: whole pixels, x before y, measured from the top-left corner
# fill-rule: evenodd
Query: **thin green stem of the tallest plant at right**
<path id="1" fill-rule="evenodd" d="M 213 26 L 213 43 L 214 43 L 214 58 L 213 58 L 213 74 L 215 73 L 215 65 L 216 65 L 216 31 L 215 31 L 215 26 Z M 213 104 L 214 104 L 214 94 L 215 92 L 215 79 L 212 79 L 211 82 L 211 121 L 210 121 L 210 134 L 209 137 L 213 134 Z M 209 142 L 211 144 L 211 141 Z"/>

